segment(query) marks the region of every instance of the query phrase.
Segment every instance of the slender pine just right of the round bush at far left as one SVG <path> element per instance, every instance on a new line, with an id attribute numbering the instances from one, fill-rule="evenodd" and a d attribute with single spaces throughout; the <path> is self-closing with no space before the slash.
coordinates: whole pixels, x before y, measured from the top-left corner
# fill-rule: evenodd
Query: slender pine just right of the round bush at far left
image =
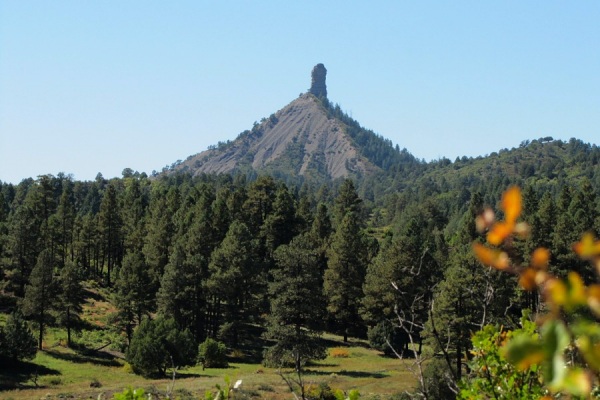
<path id="1" fill-rule="evenodd" d="M 34 320 L 38 326 L 38 349 L 42 349 L 46 325 L 52 320 L 51 310 L 54 309 L 56 288 L 53 280 L 54 259 L 49 250 L 43 250 L 38 256 L 37 263 L 29 284 L 25 287 L 25 298 L 22 310 L 25 316 Z"/>

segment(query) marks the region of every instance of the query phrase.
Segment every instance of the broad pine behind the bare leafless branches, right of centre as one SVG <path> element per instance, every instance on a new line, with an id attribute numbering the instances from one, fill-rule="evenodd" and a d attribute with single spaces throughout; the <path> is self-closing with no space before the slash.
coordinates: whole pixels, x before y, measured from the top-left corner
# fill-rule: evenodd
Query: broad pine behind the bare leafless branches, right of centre
<path id="1" fill-rule="evenodd" d="M 402 338 L 402 342 L 394 343 L 398 353 L 407 350 L 410 341 L 420 343 L 430 309 L 431 288 L 442 278 L 440 260 L 444 257 L 439 247 L 444 246 L 444 241 L 432 214 L 435 212 L 423 205 L 410 217 L 401 232 L 388 240 L 369 264 L 363 285 L 361 316 L 369 324 L 370 333 L 381 326 L 394 327 L 387 339 Z"/>

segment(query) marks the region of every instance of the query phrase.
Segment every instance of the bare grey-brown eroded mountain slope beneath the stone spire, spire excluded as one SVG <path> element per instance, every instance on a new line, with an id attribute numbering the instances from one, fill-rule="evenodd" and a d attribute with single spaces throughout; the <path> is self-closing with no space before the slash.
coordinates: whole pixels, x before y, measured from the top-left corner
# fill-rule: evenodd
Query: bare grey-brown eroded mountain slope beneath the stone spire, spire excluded
<path id="1" fill-rule="evenodd" d="M 328 116 L 321 101 L 306 93 L 251 131 L 218 148 L 192 156 L 179 168 L 194 174 L 272 167 L 288 173 L 318 173 L 335 179 L 373 168 L 359 156 L 346 126 Z"/>

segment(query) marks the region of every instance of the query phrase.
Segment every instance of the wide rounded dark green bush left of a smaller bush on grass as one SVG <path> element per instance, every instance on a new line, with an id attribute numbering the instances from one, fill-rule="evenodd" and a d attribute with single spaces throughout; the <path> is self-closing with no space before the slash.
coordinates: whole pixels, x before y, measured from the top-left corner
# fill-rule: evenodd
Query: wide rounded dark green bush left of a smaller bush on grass
<path id="1" fill-rule="evenodd" d="M 169 367 L 193 365 L 197 347 L 189 331 L 179 331 L 173 319 L 145 319 L 136 329 L 126 359 L 136 374 L 164 375 Z"/>

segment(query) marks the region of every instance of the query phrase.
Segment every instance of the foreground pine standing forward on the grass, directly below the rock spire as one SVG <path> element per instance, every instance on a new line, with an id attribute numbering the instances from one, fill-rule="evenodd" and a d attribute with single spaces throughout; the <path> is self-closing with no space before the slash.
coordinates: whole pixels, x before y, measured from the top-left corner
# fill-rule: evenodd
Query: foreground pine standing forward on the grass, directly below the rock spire
<path id="1" fill-rule="evenodd" d="M 265 336 L 274 340 L 267 360 L 291 363 L 296 371 L 310 359 L 325 358 L 319 323 L 325 316 L 317 252 L 306 236 L 298 236 L 274 254 L 276 268 L 269 284 L 271 313 Z"/>

